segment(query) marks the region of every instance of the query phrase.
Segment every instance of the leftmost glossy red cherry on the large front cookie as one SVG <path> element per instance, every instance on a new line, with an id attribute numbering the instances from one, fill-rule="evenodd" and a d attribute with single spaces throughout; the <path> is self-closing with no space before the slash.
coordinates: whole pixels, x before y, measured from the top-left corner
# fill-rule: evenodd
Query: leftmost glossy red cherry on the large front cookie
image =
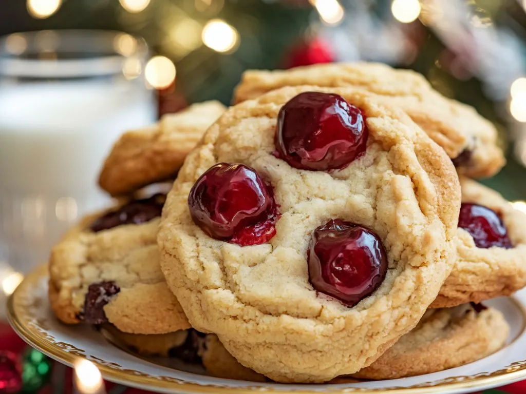
<path id="1" fill-rule="evenodd" d="M 190 190 L 188 207 L 201 230 L 218 240 L 258 245 L 276 234 L 274 193 L 243 164 L 219 163 L 208 169 Z"/>

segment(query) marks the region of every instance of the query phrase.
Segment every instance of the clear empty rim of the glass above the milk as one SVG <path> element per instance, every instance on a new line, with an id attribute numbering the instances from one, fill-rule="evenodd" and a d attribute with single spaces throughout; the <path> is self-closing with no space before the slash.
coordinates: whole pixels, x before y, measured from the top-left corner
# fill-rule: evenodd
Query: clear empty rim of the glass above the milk
<path id="1" fill-rule="evenodd" d="M 86 48 L 86 46 L 88 48 Z M 79 58 L 53 58 L 76 53 Z M 39 59 L 24 54 L 46 55 Z M 75 78 L 114 75 L 128 59 L 145 62 L 149 50 L 143 38 L 117 30 L 57 29 L 12 33 L 0 37 L 0 76 Z"/>

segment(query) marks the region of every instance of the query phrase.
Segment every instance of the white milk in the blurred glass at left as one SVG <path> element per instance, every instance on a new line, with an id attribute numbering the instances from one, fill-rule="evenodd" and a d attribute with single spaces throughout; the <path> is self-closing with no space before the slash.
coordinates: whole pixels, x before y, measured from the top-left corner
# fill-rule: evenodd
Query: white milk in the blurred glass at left
<path id="1" fill-rule="evenodd" d="M 0 85 L 0 261 L 26 272 L 108 205 L 97 186 L 106 154 L 155 118 L 153 94 L 130 81 Z"/>

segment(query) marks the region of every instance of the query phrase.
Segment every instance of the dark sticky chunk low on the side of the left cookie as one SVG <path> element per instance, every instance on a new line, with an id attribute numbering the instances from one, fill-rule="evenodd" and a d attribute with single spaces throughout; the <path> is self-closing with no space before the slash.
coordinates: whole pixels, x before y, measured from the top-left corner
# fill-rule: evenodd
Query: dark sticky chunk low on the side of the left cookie
<path id="1" fill-rule="evenodd" d="M 120 287 L 113 281 L 92 283 L 84 300 L 82 319 L 89 324 L 107 323 L 104 306 L 120 292 Z"/>

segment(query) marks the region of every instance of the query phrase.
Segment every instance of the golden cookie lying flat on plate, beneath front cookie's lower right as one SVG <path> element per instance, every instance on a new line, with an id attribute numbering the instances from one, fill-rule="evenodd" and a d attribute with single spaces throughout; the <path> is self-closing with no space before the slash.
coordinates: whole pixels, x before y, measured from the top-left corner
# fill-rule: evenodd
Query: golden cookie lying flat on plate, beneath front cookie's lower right
<path id="1" fill-rule="evenodd" d="M 459 367 L 502 348 L 509 331 L 499 310 L 481 304 L 430 309 L 417 327 L 353 377 L 397 379 Z"/>

